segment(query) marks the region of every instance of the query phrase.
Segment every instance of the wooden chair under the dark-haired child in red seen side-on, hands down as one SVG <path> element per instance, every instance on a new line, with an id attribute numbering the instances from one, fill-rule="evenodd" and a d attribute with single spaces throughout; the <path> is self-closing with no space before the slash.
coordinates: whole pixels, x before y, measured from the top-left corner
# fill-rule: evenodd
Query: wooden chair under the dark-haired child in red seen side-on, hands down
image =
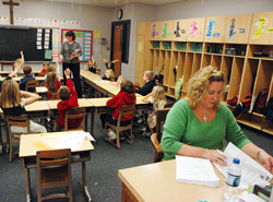
<path id="1" fill-rule="evenodd" d="M 108 127 L 110 127 L 111 129 L 114 129 L 116 131 L 116 135 L 117 135 L 116 144 L 114 142 L 110 142 L 110 143 L 112 143 L 118 148 L 120 148 L 120 132 L 126 131 L 126 130 L 131 131 L 129 140 L 126 139 L 126 141 L 128 143 L 130 143 L 130 144 L 133 144 L 133 129 L 132 129 L 132 126 L 133 126 L 133 112 L 134 112 L 134 109 L 135 109 L 134 104 L 122 106 L 120 108 L 120 111 L 119 111 L 117 126 L 111 124 L 110 122 L 105 123 L 105 128 L 107 128 L 107 126 L 108 126 Z M 132 119 L 131 119 L 130 124 L 121 127 L 121 117 L 123 117 L 123 116 L 131 116 Z"/>

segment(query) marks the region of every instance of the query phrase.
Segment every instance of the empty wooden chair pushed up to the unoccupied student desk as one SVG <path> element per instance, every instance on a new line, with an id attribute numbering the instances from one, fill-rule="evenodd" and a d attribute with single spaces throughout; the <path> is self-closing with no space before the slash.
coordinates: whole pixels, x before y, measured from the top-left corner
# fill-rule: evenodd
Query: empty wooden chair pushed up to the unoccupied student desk
<path id="1" fill-rule="evenodd" d="M 71 179 L 71 150 L 40 151 L 36 154 L 37 201 L 69 198 L 73 201 Z M 43 189 L 66 187 L 67 193 L 41 195 Z"/>

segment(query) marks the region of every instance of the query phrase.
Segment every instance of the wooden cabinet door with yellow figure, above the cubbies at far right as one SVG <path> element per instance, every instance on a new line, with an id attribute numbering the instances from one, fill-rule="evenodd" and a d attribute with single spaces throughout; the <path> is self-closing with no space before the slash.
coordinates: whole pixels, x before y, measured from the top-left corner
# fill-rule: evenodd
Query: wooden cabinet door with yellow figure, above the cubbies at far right
<path id="1" fill-rule="evenodd" d="M 273 12 L 254 13 L 249 44 L 273 45 Z"/>

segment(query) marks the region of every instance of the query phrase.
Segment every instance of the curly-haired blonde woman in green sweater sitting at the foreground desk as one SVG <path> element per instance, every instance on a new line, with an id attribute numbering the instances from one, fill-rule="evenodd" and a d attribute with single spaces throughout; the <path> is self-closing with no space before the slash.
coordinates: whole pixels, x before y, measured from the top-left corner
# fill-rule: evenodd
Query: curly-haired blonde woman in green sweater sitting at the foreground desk
<path id="1" fill-rule="evenodd" d="M 187 98 L 175 104 L 164 124 L 164 158 L 201 157 L 225 166 L 226 157 L 216 151 L 223 148 L 225 139 L 273 170 L 273 157 L 247 139 L 232 111 L 219 102 L 224 85 L 224 73 L 213 67 L 202 68 L 189 80 Z"/>

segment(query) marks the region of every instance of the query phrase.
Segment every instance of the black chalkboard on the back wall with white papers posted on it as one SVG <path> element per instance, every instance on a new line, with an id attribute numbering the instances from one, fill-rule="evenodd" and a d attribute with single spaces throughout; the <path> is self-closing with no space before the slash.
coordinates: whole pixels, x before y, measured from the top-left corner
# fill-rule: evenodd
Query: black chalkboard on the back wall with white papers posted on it
<path id="1" fill-rule="evenodd" d="M 14 61 L 23 50 L 25 61 L 51 61 L 45 59 L 45 48 L 52 49 L 50 28 L 0 27 L 0 60 Z"/>

